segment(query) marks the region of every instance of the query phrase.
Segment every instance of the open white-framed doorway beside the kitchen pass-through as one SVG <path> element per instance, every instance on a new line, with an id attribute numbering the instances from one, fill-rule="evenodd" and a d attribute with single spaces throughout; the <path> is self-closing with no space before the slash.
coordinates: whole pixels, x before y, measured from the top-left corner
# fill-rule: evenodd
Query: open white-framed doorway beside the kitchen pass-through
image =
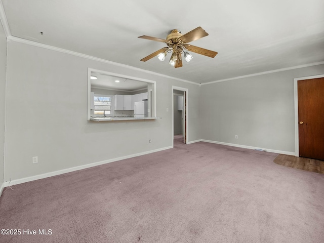
<path id="1" fill-rule="evenodd" d="M 172 87 L 172 144 L 188 142 L 188 90 Z"/>

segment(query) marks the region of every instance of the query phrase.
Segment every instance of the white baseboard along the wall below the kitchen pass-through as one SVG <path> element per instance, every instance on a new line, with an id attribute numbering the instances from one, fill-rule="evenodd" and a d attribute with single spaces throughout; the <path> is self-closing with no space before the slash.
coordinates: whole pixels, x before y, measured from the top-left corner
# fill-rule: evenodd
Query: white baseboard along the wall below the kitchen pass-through
<path id="1" fill-rule="evenodd" d="M 91 167 L 95 167 L 95 166 L 100 166 L 100 165 L 108 164 L 108 163 L 111 163 L 111 162 L 115 162 L 115 161 L 119 161 L 119 160 L 123 160 L 123 159 L 127 159 L 127 158 L 133 158 L 133 157 L 145 155 L 145 154 L 148 154 L 148 153 L 154 153 L 154 152 L 158 152 L 158 151 L 162 151 L 162 150 L 166 150 L 166 149 L 170 149 L 170 148 L 172 148 L 172 147 L 169 146 L 169 147 L 154 149 L 154 150 L 141 152 L 141 153 L 136 153 L 136 154 L 131 154 L 131 155 L 123 156 L 123 157 L 107 159 L 107 160 L 99 161 L 99 162 L 96 162 L 96 163 L 87 164 L 87 165 L 84 165 L 84 166 L 77 166 L 77 167 L 72 167 L 72 168 L 69 168 L 69 169 L 64 169 L 64 170 L 59 170 L 59 171 L 54 171 L 54 172 L 49 172 L 49 173 L 45 173 L 45 174 L 41 174 L 41 175 L 16 179 L 16 180 L 12 180 L 10 182 L 10 185 L 17 185 L 17 184 L 21 184 L 21 183 L 25 183 L 25 182 L 29 182 L 29 181 L 35 181 L 35 180 L 44 179 L 44 178 L 48 178 L 48 177 L 52 177 L 52 176 L 62 175 L 62 174 L 65 174 L 65 173 L 78 171 L 78 170 L 83 170 L 83 169 L 87 169 L 87 168 L 91 168 Z M 9 186 L 8 181 L 3 183 L 2 188 L 7 187 L 7 186 Z"/>

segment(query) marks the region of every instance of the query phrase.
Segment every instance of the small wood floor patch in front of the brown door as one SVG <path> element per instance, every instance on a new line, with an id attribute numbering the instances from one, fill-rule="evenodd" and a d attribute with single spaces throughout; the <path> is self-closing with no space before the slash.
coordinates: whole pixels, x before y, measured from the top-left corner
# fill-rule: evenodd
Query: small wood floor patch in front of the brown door
<path id="1" fill-rule="evenodd" d="M 322 160 L 279 154 L 273 161 L 281 166 L 324 174 L 324 161 Z"/>

